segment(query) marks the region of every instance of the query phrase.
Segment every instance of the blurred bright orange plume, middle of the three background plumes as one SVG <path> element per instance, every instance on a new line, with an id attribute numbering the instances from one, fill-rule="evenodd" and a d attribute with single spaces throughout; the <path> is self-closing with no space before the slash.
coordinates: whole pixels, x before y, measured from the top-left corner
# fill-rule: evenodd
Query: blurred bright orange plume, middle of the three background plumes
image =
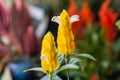
<path id="1" fill-rule="evenodd" d="M 80 22 L 82 26 L 87 26 L 89 22 L 93 23 L 94 14 L 92 13 L 92 11 L 88 6 L 88 1 L 86 0 L 83 1 L 79 15 L 80 15 Z"/>

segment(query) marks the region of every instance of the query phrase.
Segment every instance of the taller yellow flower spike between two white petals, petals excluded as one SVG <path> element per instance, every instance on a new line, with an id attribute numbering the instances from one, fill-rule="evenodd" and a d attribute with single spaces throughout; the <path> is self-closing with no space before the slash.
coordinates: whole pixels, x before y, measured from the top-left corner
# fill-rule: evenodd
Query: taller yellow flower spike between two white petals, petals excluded
<path id="1" fill-rule="evenodd" d="M 60 54 L 64 55 L 72 54 L 75 48 L 70 17 L 65 10 L 63 10 L 62 13 L 60 14 L 57 44 Z"/>

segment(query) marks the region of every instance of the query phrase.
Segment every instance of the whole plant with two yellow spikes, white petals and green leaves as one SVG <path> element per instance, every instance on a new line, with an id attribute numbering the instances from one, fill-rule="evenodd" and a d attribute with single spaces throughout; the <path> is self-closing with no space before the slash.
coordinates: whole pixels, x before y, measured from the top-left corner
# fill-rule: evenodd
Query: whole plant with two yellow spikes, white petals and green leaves
<path id="1" fill-rule="evenodd" d="M 53 22 L 59 24 L 58 35 L 57 35 L 57 48 L 55 46 L 54 37 L 51 32 L 48 32 L 42 41 L 42 50 L 41 50 L 41 67 L 32 68 L 25 70 L 26 71 L 42 71 L 47 73 L 47 76 L 44 76 L 41 80 L 61 80 L 57 73 L 63 70 L 68 69 L 79 69 L 80 67 L 76 65 L 77 62 L 81 60 L 79 57 L 87 57 L 95 60 L 89 54 L 75 54 L 74 35 L 72 33 L 71 23 L 78 21 L 79 16 L 73 15 L 69 17 L 66 10 L 63 10 L 60 16 L 54 16 L 52 18 Z M 71 57 L 74 57 L 71 58 Z M 70 59 L 70 60 L 68 60 Z M 65 64 L 62 64 L 62 61 L 65 61 Z M 77 61 L 76 61 L 77 60 Z M 67 79 L 69 79 L 69 73 L 66 71 Z M 48 77 L 49 76 L 49 77 Z M 55 77 L 56 76 L 56 77 Z"/>

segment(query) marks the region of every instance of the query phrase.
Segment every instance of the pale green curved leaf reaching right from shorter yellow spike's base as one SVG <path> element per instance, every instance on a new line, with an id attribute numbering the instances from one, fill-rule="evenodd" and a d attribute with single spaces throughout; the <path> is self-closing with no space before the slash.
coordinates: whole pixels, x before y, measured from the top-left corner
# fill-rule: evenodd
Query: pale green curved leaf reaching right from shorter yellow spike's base
<path id="1" fill-rule="evenodd" d="M 66 64 L 62 67 L 60 67 L 56 72 L 55 74 L 61 72 L 61 71 L 64 71 L 64 70 L 68 70 L 68 69 L 79 69 L 79 66 L 75 65 L 75 64 Z"/>

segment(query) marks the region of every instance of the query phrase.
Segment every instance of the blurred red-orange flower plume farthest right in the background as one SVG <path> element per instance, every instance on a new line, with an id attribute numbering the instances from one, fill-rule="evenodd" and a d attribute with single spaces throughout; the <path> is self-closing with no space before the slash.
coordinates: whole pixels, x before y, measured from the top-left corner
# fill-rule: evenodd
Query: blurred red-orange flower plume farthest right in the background
<path id="1" fill-rule="evenodd" d="M 114 23 L 117 18 L 117 13 L 115 13 L 111 8 L 109 8 L 111 0 L 105 0 L 99 11 L 99 19 L 101 28 L 106 31 L 106 39 L 113 41 L 116 37 L 117 28 Z"/>

